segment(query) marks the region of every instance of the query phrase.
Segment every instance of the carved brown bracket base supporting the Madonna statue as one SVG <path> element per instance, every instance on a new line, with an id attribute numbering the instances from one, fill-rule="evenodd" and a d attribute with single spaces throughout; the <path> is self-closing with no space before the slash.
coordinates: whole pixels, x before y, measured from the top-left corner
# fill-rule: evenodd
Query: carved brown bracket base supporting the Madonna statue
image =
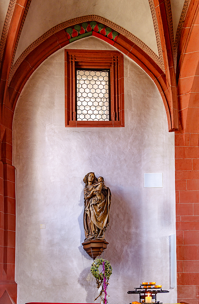
<path id="1" fill-rule="evenodd" d="M 105 240 L 91 240 L 82 243 L 84 250 L 87 254 L 94 259 L 98 257 L 107 248 L 109 243 Z"/>

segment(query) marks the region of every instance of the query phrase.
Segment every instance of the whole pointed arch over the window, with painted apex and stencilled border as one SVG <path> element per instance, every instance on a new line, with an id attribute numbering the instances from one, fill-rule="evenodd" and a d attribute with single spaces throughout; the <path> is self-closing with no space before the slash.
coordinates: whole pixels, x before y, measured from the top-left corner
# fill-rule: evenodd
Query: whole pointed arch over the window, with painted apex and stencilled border
<path id="1" fill-rule="evenodd" d="M 51 54 L 69 43 L 87 36 L 105 40 L 133 59 L 152 78 L 163 99 L 169 131 L 175 128 L 172 94 L 159 57 L 137 37 L 117 24 L 96 15 L 63 22 L 34 41 L 18 58 L 9 78 L 9 102 L 14 112 L 16 102 L 30 75 Z M 152 58 L 153 57 L 153 58 Z"/>

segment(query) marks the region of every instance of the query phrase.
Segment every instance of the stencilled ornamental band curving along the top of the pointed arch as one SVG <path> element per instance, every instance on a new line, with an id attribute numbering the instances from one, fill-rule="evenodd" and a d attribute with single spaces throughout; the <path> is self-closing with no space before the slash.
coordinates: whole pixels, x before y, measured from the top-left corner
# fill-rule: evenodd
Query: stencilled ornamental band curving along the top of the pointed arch
<path id="1" fill-rule="evenodd" d="M 150 0 L 150 1 L 153 1 L 153 0 Z M 152 6 L 154 6 L 154 4 Z M 154 8 L 154 10 L 155 10 L 155 8 Z M 155 14 L 155 16 L 156 16 L 156 14 Z M 19 58 L 16 60 L 15 64 L 12 66 L 10 75 L 9 75 L 9 83 L 10 83 L 10 80 L 12 79 L 12 76 L 14 75 L 15 71 L 21 64 L 21 62 L 40 43 L 42 43 L 44 40 L 46 40 L 51 35 L 60 31 L 61 29 L 66 29 L 68 27 L 72 28 L 72 26 L 79 25 L 80 23 L 83 23 L 83 22 L 90 23 L 91 21 L 95 21 L 100 24 L 104 24 L 106 27 L 111 28 L 113 31 L 118 32 L 119 34 L 122 34 L 125 37 L 127 37 L 129 40 L 131 40 L 136 45 L 138 45 L 142 50 L 144 50 L 146 52 L 146 54 L 148 54 L 156 62 L 156 64 L 158 64 L 161 67 L 161 69 L 164 70 L 163 56 L 161 55 L 162 51 L 160 52 L 161 56 L 159 57 L 142 40 L 137 38 L 135 35 L 133 35 L 129 31 L 127 31 L 123 27 L 118 26 L 114 22 L 112 22 L 104 17 L 98 16 L 98 15 L 87 15 L 87 16 L 82 16 L 82 17 L 78 17 L 78 18 L 74 18 L 74 19 L 70 19 L 68 21 L 62 22 L 62 23 L 58 24 L 57 26 L 54 26 L 53 28 L 49 29 L 46 33 L 44 33 L 42 36 L 40 36 L 38 39 L 36 39 L 33 43 L 31 43 L 29 45 L 29 47 L 27 47 L 26 50 L 19 56 Z M 155 30 L 158 30 L 158 28 L 155 28 Z M 159 30 L 158 30 L 158 33 L 159 33 Z M 159 47 L 159 50 L 161 50 L 160 47 Z"/>

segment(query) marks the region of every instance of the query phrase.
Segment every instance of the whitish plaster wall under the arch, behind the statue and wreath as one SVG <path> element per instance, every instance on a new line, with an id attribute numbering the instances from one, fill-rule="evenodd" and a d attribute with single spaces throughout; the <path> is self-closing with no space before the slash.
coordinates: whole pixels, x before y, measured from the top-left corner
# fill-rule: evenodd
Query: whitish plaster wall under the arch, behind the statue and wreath
<path id="1" fill-rule="evenodd" d="M 68 48 L 114 49 L 95 37 Z M 160 93 L 124 57 L 125 127 L 65 128 L 64 50 L 26 83 L 15 109 L 16 277 L 18 304 L 94 302 L 92 259 L 83 250 L 83 178 L 102 175 L 112 192 L 105 259 L 111 262 L 110 304 L 138 301 L 128 290 L 155 281 L 169 289 L 169 235 L 175 233 L 174 133 Z M 144 172 L 163 172 L 163 188 L 143 188 Z M 46 229 L 40 229 L 46 224 Z M 100 302 L 100 301 L 96 301 Z"/>

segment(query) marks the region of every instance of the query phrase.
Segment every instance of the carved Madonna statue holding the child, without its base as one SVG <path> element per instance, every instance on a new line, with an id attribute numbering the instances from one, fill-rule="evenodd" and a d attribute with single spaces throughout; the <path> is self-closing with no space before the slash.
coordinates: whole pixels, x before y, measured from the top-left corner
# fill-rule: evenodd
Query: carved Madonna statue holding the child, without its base
<path id="1" fill-rule="evenodd" d="M 94 172 L 84 177 L 84 232 L 85 240 L 104 240 L 109 223 L 111 191 L 104 178 L 96 178 Z"/>

